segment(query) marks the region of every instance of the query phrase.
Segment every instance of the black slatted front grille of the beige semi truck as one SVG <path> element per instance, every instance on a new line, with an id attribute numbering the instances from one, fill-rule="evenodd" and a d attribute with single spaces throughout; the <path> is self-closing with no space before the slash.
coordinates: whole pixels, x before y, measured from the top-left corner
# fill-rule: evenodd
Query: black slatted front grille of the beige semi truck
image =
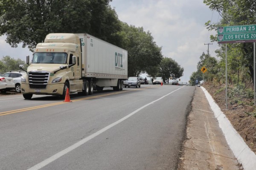
<path id="1" fill-rule="evenodd" d="M 37 89 L 46 89 L 49 80 L 49 72 L 31 71 L 29 72 L 29 87 Z"/>

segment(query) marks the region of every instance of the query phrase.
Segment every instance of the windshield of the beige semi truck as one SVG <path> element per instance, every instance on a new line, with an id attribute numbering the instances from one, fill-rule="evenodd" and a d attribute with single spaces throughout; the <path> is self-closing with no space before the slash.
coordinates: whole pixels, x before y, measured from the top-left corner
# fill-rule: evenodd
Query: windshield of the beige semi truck
<path id="1" fill-rule="evenodd" d="M 66 64 L 67 53 L 35 53 L 32 63 Z"/>

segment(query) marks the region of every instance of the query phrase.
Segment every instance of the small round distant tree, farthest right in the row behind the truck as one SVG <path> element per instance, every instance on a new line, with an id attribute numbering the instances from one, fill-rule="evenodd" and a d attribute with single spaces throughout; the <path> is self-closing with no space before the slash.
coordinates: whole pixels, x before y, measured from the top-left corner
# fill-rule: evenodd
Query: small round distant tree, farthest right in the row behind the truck
<path id="1" fill-rule="evenodd" d="M 164 80 L 172 77 L 172 79 L 177 79 L 183 76 L 184 68 L 180 67 L 178 63 L 171 58 L 165 57 L 160 63 L 159 76 Z"/>

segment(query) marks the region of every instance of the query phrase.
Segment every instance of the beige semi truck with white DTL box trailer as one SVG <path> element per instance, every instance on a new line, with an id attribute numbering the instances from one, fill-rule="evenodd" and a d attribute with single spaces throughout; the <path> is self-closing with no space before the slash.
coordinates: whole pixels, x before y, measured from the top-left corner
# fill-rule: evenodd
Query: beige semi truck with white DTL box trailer
<path id="1" fill-rule="evenodd" d="M 66 96 L 78 93 L 84 96 L 93 91 L 112 87 L 122 91 L 128 78 L 126 50 L 89 34 L 48 34 L 36 45 L 32 61 L 21 77 L 21 93 L 25 99 L 33 94 Z M 20 65 L 23 69 L 23 65 Z"/>

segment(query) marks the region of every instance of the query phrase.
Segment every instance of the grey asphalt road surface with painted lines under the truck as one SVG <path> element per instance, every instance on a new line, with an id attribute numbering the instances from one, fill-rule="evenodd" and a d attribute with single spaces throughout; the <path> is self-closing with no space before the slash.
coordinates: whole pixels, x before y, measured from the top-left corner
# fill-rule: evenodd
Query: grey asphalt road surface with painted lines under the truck
<path id="1" fill-rule="evenodd" d="M 176 170 L 195 87 L 0 96 L 1 170 Z"/>

